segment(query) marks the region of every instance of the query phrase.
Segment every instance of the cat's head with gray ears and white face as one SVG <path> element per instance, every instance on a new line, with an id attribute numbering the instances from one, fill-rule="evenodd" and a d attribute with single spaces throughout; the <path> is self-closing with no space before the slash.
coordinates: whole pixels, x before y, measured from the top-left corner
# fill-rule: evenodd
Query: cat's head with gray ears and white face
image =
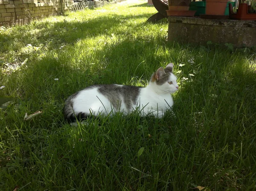
<path id="1" fill-rule="evenodd" d="M 172 73 L 173 64 L 170 63 L 164 69 L 160 67 L 151 76 L 151 83 L 156 85 L 156 88 L 162 93 L 175 93 L 179 86 L 177 84 L 177 78 Z"/>

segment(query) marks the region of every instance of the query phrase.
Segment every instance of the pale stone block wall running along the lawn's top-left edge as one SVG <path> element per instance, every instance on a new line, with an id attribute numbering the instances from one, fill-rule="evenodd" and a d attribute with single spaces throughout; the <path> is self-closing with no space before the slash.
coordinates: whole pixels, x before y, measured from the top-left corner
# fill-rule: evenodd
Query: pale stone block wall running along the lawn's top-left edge
<path id="1" fill-rule="evenodd" d="M 112 3 L 120 2 L 115 0 Z M 39 17 L 104 6 L 105 0 L 0 0 L 0 26 L 23 25 Z"/>

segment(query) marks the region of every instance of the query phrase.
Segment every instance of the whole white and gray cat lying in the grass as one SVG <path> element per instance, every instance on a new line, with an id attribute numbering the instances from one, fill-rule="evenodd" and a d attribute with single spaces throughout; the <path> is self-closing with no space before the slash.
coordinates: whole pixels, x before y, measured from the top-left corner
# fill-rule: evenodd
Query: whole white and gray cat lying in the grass
<path id="1" fill-rule="evenodd" d="M 146 87 L 104 84 L 86 87 L 67 98 L 63 109 L 68 122 L 89 116 L 127 115 L 138 110 L 140 116 L 162 118 L 173 105 L 170 95 L 178 90 L 177 78 L 172 73 L 173 64 L 160 67 L 153 73 Z"/>

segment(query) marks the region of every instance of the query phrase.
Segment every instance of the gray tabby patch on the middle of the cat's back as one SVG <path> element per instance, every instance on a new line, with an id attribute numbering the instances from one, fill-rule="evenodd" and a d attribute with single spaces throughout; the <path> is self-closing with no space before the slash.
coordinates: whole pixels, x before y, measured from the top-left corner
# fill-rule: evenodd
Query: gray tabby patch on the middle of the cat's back
<path id="1" fill-rule="evenodd" d="M 98 91 L 108 98 L 115 109 L 120 107 L 123 100 L 127 109 L 130 110 L 132 104 L 137 103 L 140 88 L 142 87 L 106 84 L 99 85 Z"/>

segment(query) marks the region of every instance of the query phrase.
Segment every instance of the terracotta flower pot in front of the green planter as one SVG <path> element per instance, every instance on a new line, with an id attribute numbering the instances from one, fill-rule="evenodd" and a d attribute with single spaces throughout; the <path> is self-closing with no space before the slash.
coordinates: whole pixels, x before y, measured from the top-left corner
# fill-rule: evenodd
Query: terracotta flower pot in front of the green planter
<path id="1" fill-rule="evenodd" d="M 228 0 L 206 0 L 205 14 L 224 15 Z"/>

